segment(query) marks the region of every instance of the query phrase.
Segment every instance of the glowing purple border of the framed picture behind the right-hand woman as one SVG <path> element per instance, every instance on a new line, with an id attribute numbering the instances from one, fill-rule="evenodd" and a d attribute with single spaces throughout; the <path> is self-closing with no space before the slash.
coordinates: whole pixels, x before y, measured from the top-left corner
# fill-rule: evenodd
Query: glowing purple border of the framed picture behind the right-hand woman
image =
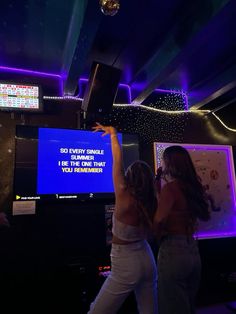
<path id="1" fill-rule="evenodd" d="M 223 237 L 233 237 L 236 236 L 236 186 L 235 186 L 235 177 L 234 177 L 234 162 L 233 162 L 233 153 L 231 146 L 226 145 L 204 145 L 204 144 L 182 144 L 182 143 L 154 143 L 154 156 L 155 156 L 155 168 L 160 166 L 160 154 L 164 151 L 165 148 L 172 145 L 181 145 L 189 150 L 205 150 L 205 151 L 221 151 L 224 153 L 226 158 L 226 167 L 228 169 L 228 180 L 230 183 L 231 189 L 229 190 L 231 195 L 231 204 L 229 204 L 229 212 L 232 215 L 223 216 L 226 217 L 228 225 L 228 230 L 220 230 L 221 225 L 214 226 L 213 229 L 209 231 L 199 231 L 196 234 L 196 237 L 199 239 L 209 239 L 209 238 L 223 238 Z M 160 153 L 160 152 L 161 153 Z M 225 214 L 224 214 L 225 215 Z M 222 218 L 222 217 L 221 217 Z M 219 219 L 219 218 L 218 218 Z M 215 222 L 215 221 L 214 221 Z M 224 221 L 222 221 L 222 224 Z M 223 226 L 223 225 L 222 225 Z"/>

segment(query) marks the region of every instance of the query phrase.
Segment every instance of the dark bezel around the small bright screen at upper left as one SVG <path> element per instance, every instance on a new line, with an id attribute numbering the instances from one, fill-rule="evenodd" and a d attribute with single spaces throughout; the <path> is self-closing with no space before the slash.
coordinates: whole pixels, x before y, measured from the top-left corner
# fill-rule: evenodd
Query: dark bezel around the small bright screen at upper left
<path id="1" fill-rule="evenodd" d="M 38 84 L 28 84 L 28 83 L 19 83 L 19 82 L 16 82 L 16 81 L 2 81 L 0 80 L 0 84 L 11 84 L 11 85 L 15 85 L 15 86 L 21 86 L 21 85 L 24 85 L 24 86 L 33 86 L 33 87 L 38 87 L 38 100 L 39 100 L 39 106 L 38 108 L 20 108 L 20 107 L 8 107 L 8 106 L 5 106 L 5 107 L 2 107 L 0 106 L 0 111 L 7 111 L 7 112 L 22 112 L 22 113 L 42 113 L 43 112 L 43 93 L 42 93 L 42 87 L 41 85 L 38 85 Z"/>

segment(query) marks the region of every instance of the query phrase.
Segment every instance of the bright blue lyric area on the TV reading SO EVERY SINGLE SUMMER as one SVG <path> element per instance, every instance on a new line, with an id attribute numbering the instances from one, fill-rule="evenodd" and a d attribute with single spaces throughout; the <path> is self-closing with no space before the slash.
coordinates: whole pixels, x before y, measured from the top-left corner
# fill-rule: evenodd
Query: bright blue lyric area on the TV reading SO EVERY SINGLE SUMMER
<path id="1" fill-rule="evenodd" d="M 38 136 L 37 194 L 114 192 L 110 136 L 49 128 Z"/>

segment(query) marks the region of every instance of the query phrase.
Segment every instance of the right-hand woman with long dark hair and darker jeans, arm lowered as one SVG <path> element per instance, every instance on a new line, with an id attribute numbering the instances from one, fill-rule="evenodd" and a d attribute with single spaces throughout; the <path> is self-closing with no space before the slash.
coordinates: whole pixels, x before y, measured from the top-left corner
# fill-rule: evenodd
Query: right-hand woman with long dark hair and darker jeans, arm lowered
<path id="1" fill-rule="evenodd" d="M 160 174 L 159 174 L 160 177 Z M 154 232 L 158 252 L 159 314 L 193 314 L 201 275 L 201 260 L 194 233 L 198 219 L 210 219 L 205 190 L 188 151 L 165 149 Z"/>

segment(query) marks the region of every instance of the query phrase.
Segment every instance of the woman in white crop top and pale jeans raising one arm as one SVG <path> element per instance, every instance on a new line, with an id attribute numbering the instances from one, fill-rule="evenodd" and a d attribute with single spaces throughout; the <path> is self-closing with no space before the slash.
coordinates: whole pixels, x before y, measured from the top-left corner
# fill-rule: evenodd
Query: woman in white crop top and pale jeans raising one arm
<path id="1" fill-rule="evenodd" d="M 157 270 L 147 237 L 156 211 L 154 176 L 143 161 L 123 169 L 121 147 L 115 128 L 99 123 L 93 128 L 109 135 L 113 156 L 115 211 L 113 214 L 111 273 L 89 314 L 117 313 L 134 291 L 140 314 L 157 313 Z"/>

